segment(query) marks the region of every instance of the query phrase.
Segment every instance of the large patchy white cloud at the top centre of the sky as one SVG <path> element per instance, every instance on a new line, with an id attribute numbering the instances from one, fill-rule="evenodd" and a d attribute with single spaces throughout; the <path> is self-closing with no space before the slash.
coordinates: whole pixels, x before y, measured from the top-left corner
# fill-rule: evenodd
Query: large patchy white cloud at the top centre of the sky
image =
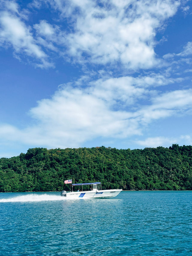
<path id="1" fill-rule="evenodd" d="M 45 2 L 61 13 L 60 21 L 67 20 L 68 28 L 62 30 L 41 20 L 34 25 L 38 37 L 64 47 L 64 55 L 74 62 L 120 63 L 131 69 L 158 64 L 156 30 L 179 6 L 179 1 L 170 0 L 103 1 L 101 5 L 93 0 Z"/>

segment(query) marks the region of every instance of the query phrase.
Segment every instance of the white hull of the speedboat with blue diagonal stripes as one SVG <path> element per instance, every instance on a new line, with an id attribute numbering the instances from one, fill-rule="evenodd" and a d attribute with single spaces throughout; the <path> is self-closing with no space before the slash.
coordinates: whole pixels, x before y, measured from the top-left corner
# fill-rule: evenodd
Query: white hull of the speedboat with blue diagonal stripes
<path id="1" fill-rule="evenodd" d="M 65 197 L 67 199 L 110 198 L 116 197 L 121 191 L 122 189 L 68 192 Z"/>

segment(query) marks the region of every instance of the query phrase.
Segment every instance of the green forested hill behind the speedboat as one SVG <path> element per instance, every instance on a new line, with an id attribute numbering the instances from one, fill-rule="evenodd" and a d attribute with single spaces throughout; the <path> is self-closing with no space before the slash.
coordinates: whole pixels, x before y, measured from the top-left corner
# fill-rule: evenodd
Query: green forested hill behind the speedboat
<path id="1" fill-rule="evenodd" d="M 0 192 L 67 190 L 64 180 L 102 188 L 192 190 L 192 146 L 170 148 L 30 148 L 0 159 Z"/>

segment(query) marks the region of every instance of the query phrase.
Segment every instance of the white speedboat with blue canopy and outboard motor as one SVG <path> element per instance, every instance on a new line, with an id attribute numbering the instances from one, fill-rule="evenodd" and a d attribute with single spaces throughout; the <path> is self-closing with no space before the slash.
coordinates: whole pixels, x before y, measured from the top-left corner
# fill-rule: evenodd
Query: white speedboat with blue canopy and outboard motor
<path id="1" fill-rule="evenodd" d="M 86 185 L 88 190 L 84 190 L 83 186 Z M 67 197 L 71 199 L 85 199 L 85 198 L 110 198 L 116 197 L 122 189 L 107 189 L 102 190 L 101 182 L 93 182 L 93 183 L 77 183 L 71 184 L 72 191 L 66 192 L 65 190 L 61 191 L 62 197 Z M 73 187 L 78 186 L 77 191 L 73 191 Z M 79 191 L 80 187 L 80 191 Z"/>

